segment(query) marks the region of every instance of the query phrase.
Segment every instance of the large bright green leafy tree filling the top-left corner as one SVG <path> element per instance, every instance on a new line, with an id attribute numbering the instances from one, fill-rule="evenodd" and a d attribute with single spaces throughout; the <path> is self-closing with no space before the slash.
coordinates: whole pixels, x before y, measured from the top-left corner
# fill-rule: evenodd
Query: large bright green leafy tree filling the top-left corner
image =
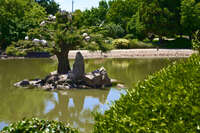
<path id="1" fill-rule="evenodd" d="M 24 39 L 46 16 L 44 8 L 32 0 L 1 0 L 0 14 L 0 44 L 4 49 L 12 41 Z"/>

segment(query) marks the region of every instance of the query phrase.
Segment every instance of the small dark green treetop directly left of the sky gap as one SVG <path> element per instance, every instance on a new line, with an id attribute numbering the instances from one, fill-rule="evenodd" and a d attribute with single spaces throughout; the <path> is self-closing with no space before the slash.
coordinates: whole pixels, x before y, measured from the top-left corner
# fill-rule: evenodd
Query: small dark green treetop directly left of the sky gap
<path id="1" fill-rule="evenodd" d="M 59 11 L 59 4 L 54 0 L 35 0 L 35 2 L 44 7 L 47 14 L 55 15 Z"/>

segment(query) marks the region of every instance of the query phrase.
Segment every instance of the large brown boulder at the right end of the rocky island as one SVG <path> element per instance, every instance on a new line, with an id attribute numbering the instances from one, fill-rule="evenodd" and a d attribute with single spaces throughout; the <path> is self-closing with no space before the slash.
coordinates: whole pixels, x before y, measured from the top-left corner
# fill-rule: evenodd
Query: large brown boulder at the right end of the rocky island
<path id="1" fill-rule="evenodd" d="M 112 86 L 111 80 L 108 77 L 108 74 L 104 67 L 101 67 L 96 71 L 86 74 L 83 77 L 83 82 L 85 85 L 92 88 L 104 88 Z"/>

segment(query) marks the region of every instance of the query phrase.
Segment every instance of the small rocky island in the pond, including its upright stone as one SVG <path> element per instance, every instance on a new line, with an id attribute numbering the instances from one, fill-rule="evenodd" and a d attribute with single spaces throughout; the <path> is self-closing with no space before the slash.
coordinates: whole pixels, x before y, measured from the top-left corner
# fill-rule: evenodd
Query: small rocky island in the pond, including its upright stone
<path id="1" fill-rule="evenodd" d="M 15 83 L 16 87 L 42 88 L 44 90 L 68 90 L 68 89 L 89 89 L 105 88 L 112 86 L 112 81 L 108 77 L 107 71 L 101 67 L 93 72 L 85 73 L 84 58 L 77 52 L 73 64 L 73 69 L 67 74 L 51 72 L 44 79 L 23 80 Z"/>

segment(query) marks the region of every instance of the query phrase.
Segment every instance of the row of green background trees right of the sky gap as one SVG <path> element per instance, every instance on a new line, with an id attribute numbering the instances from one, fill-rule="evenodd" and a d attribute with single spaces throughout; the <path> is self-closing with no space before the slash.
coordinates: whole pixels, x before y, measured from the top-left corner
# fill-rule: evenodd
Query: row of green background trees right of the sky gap
<path id="1" fill-rule="evenodd" d="M 111 0 L 97 8 L 74 12 L 75 23 L 97 26 L 102 22 L 120 25 L 126 33 L 144 39 L 148 34 L 162 38 L 192 34 L 200 28 L 199 0 Z"/>

